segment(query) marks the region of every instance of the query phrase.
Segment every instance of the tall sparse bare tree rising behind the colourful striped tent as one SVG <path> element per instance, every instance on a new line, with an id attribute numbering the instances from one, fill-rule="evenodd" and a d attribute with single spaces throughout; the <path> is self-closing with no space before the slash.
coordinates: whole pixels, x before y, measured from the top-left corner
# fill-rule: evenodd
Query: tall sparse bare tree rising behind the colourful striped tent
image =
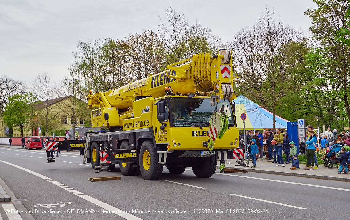
<path id="1" fill-rule="evenodd" d="M 273 128 L 278 100 L 297 89 L 295 52 L 302 41 L 302 33 L 275 21 L 266 8 L 253 28 L 237 32 L 230 42 L 240 76 L 239 89 L 272 110 Z"/>

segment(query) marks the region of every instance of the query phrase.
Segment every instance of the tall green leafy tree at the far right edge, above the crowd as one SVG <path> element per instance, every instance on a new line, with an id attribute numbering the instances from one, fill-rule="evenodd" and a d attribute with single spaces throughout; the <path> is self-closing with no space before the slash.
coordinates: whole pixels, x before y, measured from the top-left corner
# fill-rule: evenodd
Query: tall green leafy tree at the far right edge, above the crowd
<path id="1" fill-rule="evenodd" d="M 310 63 L 317 67 L 317 71 L 314 72 L 315 77 L 308 85 L 316 97 L 328 96 L 328 100 L 324 100 L 320 106 L 317 106 L 319 116 L 327 120 L 325 123 L 331 125 L 334 120 L 338 120 L 339 102 L 344 103 L 349 123 L 350 47 L 339 40 L 338 36 L 339 31 L 348 27 L 346 13 L 349 10 L 349 2 L 345 0 L 314 0 L 314 2 L 318 8 L 308 9 L 305 14 L 312 20 L 313 26 L 310 30 L 313 33 L 313 39 L 320 47 L 315 51 L 313 62 Z M 326 112 L 326 114 L 321 112 Z"/>

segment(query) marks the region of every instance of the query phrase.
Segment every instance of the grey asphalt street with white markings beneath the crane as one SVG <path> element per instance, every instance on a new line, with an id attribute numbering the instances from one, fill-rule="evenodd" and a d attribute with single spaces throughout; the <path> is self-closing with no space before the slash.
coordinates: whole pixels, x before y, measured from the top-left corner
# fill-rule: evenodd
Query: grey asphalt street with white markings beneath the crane
<path id="1" fill-rule="evenodd" d="M 157 181 L 140 173 L 95 173 L 79 152 L 46 163 L 45 150 L 0 147 L 0 178 L 37 220 L 47 219 L 349 219 L 346 182 L 260 173 L 197 178 L 191 168 Z M 23 170 L 24 169 L 24 170 Z M 117 175 L 121 180 L 90 182 Z M 60 186 L 63 186 L 62 188 Z M 69 188 L 67 188 L 69 186 Z M 56 212 L 56 213 L 52 213 Z M 128 214 L 126 214 L 126 213 Z M 0 214 L 6 214 L 0 206 Z"/>

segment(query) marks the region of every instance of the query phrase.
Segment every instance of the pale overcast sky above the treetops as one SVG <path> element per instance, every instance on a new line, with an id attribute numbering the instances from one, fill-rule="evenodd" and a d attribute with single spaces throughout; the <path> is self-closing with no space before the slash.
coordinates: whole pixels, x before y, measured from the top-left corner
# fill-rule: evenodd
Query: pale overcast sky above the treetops
<path id="1" fill-rule="evenodd" d="M 68 75 L 78 41 L 157 31 L 170 5 L 223 42 L 252 26 L 265 6 L 275 19 L 304 31 L 311 25 L 304 12 L 316 8 L 312 0 L 0 0 L 0 76 L 30 84 L 47 71 L 59 81 Z"/>

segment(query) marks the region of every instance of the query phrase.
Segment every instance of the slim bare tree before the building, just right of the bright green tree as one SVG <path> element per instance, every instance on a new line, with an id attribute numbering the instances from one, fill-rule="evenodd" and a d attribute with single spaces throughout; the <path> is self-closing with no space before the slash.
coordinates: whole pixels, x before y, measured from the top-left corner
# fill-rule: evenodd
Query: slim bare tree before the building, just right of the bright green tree
<path id="1" fill-rule="evenodd" d="M 57 86 L 56 83 L 51 80 L 51 76 L 45 71 L 42 74 L 38 74 L 31 85 L 33 93 L 41 100 L 41 103 L 37 104 L 38 115 L 36 121 L 38 125 L 45 126 L 45 136 L 48 135 L 49 129 L 55 129 L 60 124 L 60 113 L 55 111 L 57 98 Z"/>

